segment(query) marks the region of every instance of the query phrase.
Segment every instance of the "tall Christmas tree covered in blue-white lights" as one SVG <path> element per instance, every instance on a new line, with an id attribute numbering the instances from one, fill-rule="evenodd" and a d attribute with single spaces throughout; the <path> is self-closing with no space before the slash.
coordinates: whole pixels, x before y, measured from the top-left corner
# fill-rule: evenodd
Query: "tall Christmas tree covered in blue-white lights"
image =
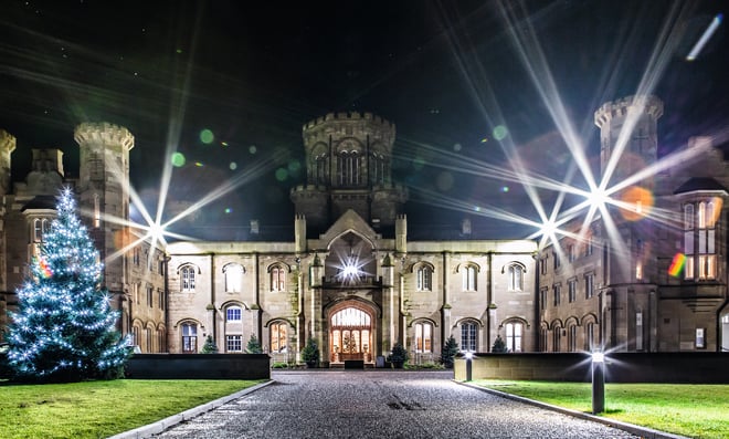
<path id="1" fill-rule="evenodd" d="M 18 290 L 19 311 L 10 313 L 10 365 L 24 380 L 118 377 L 128 348 L 115 328 L 118 313 L 99 288 L 98 251 L 75 213 L 70 189 L 59 197 L 56 210 Z"/>

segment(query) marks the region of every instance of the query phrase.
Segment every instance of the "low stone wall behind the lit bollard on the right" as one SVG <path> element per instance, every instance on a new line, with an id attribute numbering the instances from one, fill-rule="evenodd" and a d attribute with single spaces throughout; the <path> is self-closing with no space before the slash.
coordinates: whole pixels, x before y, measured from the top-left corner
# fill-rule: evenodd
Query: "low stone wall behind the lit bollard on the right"
<path id="1" fill-rule="evenodd" d="M 605 358 L 608 383 L 729 384 L 729 353 L 615 353 Z M 590 381 L 587 353 L 474 354 L 472 379 Z M 466 358 L 454 364 L 454 378 L 466 379 Z"/>

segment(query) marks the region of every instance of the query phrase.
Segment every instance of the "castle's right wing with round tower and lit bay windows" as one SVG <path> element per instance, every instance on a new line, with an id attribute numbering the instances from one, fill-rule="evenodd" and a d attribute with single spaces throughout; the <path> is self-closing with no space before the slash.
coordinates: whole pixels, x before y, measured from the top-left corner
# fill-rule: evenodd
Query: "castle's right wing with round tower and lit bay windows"
<path id="1" fill-rule="evenodd" d="M 601 169 L 624 147 L 610 186 L 631 184 L 613 195 L 623 205 L 610 207 L 610 218 L 598 216 L 585 229 L 575 219 L 568 227 L 574 236 L 540 251 L 540 351 L 729 347 L 723 153 L 708 138 L 693 138 L 659 160 L 662 114 L 655 97 L 627 97 L 595 112 Z M 631 181 L 664 163 L 659 173 Z"/>

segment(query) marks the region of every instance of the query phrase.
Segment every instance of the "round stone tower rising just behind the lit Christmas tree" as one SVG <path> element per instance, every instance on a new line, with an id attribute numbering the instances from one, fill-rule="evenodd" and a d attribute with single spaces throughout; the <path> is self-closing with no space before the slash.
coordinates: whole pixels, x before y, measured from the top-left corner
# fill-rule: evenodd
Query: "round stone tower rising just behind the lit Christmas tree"
<path id="1" fill-rule="evenodd" d="M 78 206 L 105 261 L 106 288 L 120 293 L 124 258 L 107 261 L 106 257 L 123 249 L 126 241 L 126 228 L 120 223 L 129 219 L 129 150 L 134 148 L 134 136 L 123 126 L 83 123 L 74 130 L 74 138 L 81 149 Z"/>

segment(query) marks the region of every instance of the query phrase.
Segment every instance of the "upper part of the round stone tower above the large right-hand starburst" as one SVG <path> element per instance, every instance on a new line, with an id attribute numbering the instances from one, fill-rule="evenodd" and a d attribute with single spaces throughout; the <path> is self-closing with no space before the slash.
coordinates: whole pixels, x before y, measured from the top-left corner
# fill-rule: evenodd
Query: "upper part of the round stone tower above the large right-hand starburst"
<path id="1" fill-rule="evenodd" d="M 662 115 L 663 102 L 653 95 L 627 96 L 603 104 L 594 114 L 600 128 L 600 174 L 612 173 L 614 184 L 655 164 L 657 122 Z M 621 155 L 620 160 L 611 164 L 614 154 Z M 653 186 L 652 181 L 645 185 Z"/>

